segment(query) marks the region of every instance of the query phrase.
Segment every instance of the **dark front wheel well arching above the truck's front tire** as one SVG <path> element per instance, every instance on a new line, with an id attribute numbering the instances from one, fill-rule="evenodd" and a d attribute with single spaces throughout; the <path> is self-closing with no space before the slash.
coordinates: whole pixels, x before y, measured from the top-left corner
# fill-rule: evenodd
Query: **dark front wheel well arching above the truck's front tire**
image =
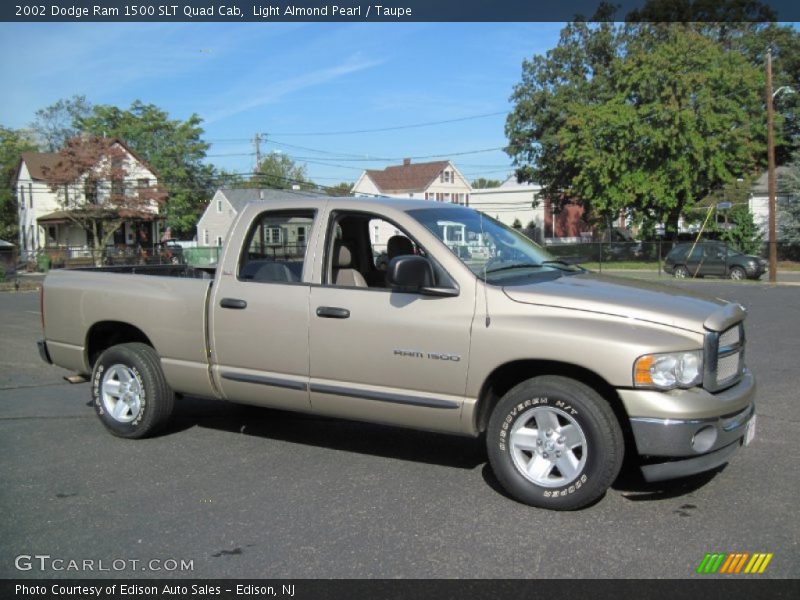
<path id="1" fill-rule="evenodd" d="M 628 414 L 625 412 L 619 394 L 611 384 L 589 369 L 570 363 L 548 360 L 517 360 L 492 371 L 486 378 L 478 396 L 478 408 L 475 413 L 478 431 L 486 431 L 492 410 L 506 392 L 515 385 L 539 375 L 561 375 L 588 385 L 611 406 L 622 428 L 626 445 L 629 439 L 633 439 Z"/>

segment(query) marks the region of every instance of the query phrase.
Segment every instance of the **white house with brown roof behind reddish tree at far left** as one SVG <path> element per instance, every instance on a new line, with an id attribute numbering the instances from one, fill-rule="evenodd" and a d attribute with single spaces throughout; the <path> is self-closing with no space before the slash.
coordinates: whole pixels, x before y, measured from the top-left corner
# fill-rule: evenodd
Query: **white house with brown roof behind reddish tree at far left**
<path id="1" fill-rule="evenodd" d="M 112 190 L 135 190 L 158 184 L 155 172 L 136 156 L 121 140 L 108 140 L 114 153 L 122 151 L 124 181 L 89 182 L 86 174 L 55 191 L 48 184 L 47 173 L 63 160 L 54 152 L 24 152 L 17 166 L 14 189 L 17 193 L 19 253 L 32 258 L 39 250 L 88 250 L 92 245 L 89 233 L 70 219 L 69 213 L 86 203 L 102 205 Z M 152 218 L 131 218 L 115 233 L 114 245 L 151 246 L 158 241 L 158 204 L 153 202 L 146 212 Z"/>

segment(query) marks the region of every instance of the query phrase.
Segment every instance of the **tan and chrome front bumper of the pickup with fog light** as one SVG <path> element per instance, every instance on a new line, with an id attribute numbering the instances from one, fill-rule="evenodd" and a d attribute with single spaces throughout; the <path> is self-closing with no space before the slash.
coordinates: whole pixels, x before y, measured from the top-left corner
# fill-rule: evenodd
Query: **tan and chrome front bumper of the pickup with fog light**
<path id="1" fill-rule="evenodd" d="M 652 394 L 621 393 L 628 414 L 654 408 Z M 748 371 L 738 384 L 717 394 L 698 388 L 660 395 L 658 410 L 630 419 L 647 481 L 693 475 L 726 463 L 755 418 L 755 380 Z M 669 415 L 664 414 L 667 407 Z"/>

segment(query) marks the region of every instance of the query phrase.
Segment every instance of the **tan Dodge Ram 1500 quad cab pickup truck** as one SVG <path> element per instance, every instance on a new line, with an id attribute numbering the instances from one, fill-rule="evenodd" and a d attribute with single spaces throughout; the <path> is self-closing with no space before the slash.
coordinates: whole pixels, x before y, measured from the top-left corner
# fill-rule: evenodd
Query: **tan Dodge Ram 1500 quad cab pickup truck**
<path id="1" fill-rule="evenodd" d="M 509 494 L 575 509 L 626 452 L 656 481 L 754 435 L 741 306 L 600 277 L 462 206 L 251 204 L 215 273 L 151 269 L 42 289 L 43 358 L 90 378 L 118 436 L 157 431 L 176 393 L 485 432 Z"/>

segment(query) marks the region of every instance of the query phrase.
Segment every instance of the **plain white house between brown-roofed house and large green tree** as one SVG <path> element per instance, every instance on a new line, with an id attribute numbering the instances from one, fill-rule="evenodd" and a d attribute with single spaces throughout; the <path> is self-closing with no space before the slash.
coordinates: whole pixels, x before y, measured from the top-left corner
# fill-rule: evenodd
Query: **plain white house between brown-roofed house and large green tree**
<path id="1" fill-rule="evenodd" d="M 519 221 L 523 228 L 533 223 L 534 237 L 542 242 L 545 224 L 545 202 L 538 183 L 517 183 L 517 176 L 511 175 L 499 187 L 472 191 L 470 206 L 494 217 L 509 227 Z"/>

